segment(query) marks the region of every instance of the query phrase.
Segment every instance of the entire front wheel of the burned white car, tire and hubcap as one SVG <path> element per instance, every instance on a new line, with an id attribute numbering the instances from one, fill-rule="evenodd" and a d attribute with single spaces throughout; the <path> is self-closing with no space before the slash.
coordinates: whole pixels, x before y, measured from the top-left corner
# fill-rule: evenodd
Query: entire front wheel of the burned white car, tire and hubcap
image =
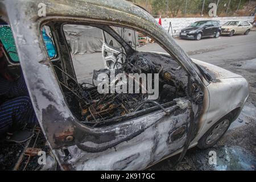
<path id="1" fill-rule="evenodd" d="M 220 121 L 216 122 L 210 129 L 200 138 L 197 143 L 197 147 L 201 149 L 210 148 L 214 146 L 226 133 L 231 121 L 229 117 L 224 117 Z"/>

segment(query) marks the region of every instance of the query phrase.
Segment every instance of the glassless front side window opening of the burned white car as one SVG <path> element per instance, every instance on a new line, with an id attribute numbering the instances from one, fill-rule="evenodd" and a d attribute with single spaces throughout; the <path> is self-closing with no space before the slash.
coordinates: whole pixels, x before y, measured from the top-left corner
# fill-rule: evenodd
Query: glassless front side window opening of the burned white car
<path id="1" fill-rule="evenodd" d="M 171 106 L 175 98 L 187 96 L 187 72 L 171 56 L 150 52 L 150 44 L 152 51 L 159 49 L 164 52 L 162 47 L 154 43 L 154 39 L 129 28 L 112 26 L 111 29 L 111 32 L 107 32 L 104 26 L 98 28 L 91 24 L 63 26 L 76 78 L 69 76 L 69 80 L 73 81 L 67 83 L 61 82 L 62 78 L 59 78 L 59 82 L 69 109 L 81 123 L 92 127 L 111 125 L 125 121 L 127 115 L 133 115 L 135 111 L 138 113 L 133 117 L 138 117 L 148 110 L 156 111 Z M 119 40 L 114 38 L 116 33 Z M 142 36 L 146 41 L 140 41 Z M 134 51 L 127 52 L 123 47 L 124 42 Z M 141 52 L 143 49 L 147 52 Z M 58 70 L 62 72 L 61 75 L 67 75 L 63 70 Z M 118 74 L 126 78 L 118 78 Z M 130 74 L 146 77 L 135 80 L 133 75 L 129 77 Z M 148 74 L 151 74 L 151 78 L 147 77 Z M 115 80 L 111 80 L 111 76 Z M 134 84 L 131 88 L 129 78 Z M 138 83 L 138 93 L 135 93 L 135 81 Z M 149 93 L 147 86 L 144 86 L 150 83 L 152 89 L 158 87 L 159 93 L 154 102 L 149 101 L 154 93 Z M 114 84 L 115 89 L 123 89 L 126 85 L 127 92 L 117 93 L 115 90 L 112 93 L 111 84 Z M 99 91 L 99 85 L 108 91 Z M 133 90 L 132 93 L 129 89 Z M 145 93 L 142 93 L 145 89 Z"/>

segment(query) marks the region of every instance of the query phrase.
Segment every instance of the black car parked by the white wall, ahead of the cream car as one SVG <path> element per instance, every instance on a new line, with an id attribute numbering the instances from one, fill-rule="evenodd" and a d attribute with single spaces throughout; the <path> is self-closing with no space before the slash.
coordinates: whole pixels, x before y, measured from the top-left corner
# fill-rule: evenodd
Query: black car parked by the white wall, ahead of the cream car
<path id="1" fill-rule="evenodd" d="M 203 20 L 199 22 L 194 22 L 186 28 L 183 28 L 180 32 L 181 39 L 196 39 L 207 36 L 214 36 L 218 38 L 221 33 L 220 23 L 213 20 Z"/>

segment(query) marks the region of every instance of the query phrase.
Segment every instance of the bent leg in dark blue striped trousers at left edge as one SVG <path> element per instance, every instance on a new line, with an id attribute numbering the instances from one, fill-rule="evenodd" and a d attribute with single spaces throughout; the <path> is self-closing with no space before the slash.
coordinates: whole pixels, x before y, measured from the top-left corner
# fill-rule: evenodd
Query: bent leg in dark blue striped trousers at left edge
<path id="1" fill-rule="evenodd" d="M 0 106 L 0 136 L 12 133 L 37 121 L 31 100 L 27 96 L 16 97 Z"/>

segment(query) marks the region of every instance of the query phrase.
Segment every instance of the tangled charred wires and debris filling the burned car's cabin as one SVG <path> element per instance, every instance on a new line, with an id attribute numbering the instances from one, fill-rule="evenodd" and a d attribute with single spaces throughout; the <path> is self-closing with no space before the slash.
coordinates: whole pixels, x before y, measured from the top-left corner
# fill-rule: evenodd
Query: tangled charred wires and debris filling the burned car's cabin
<path id="1" fill-rule="evenodd" d="M 125 54 L 125 53 L 123 53 Z M 187 96 L 187 73 L 174 59 L 157 53 L 138 53 L 127 57 L 114 64 L 115 73 L 159 73 L 159 97 L 155 101 L 148 100 L 148 93 L 109 93 L 100 94 L 97 91 L 97 76 L 100 73 L 110 75 L 109 69 L 93 71 L 93 84 L 79 84 L 75 78 L 56 67 L 71 80 L 63 86 L 65 99 L 73 114 L 85 125 L 100 127 L 114 123 L 115 119 L 139 110 L 154 107 L 154 110 L 170 106 L 175 98 Z M 154 79 L 153 79 L 154 80 Z M 118 81 L 116 82 L 118 84 Z M 154 85 L 154 82 L 152 83 Z M 142 86 L 140 84 L 140 86 Z M 142 88 L 140 88 L 142 89 Z M 168 104 L 169 103 L 169 104 Z M 165 104 L 165 105 L 163 105 Z M 152 111 L 152 110 L 151 110 Z M 168 114 L 168 113 L 166 113 Z"/>

